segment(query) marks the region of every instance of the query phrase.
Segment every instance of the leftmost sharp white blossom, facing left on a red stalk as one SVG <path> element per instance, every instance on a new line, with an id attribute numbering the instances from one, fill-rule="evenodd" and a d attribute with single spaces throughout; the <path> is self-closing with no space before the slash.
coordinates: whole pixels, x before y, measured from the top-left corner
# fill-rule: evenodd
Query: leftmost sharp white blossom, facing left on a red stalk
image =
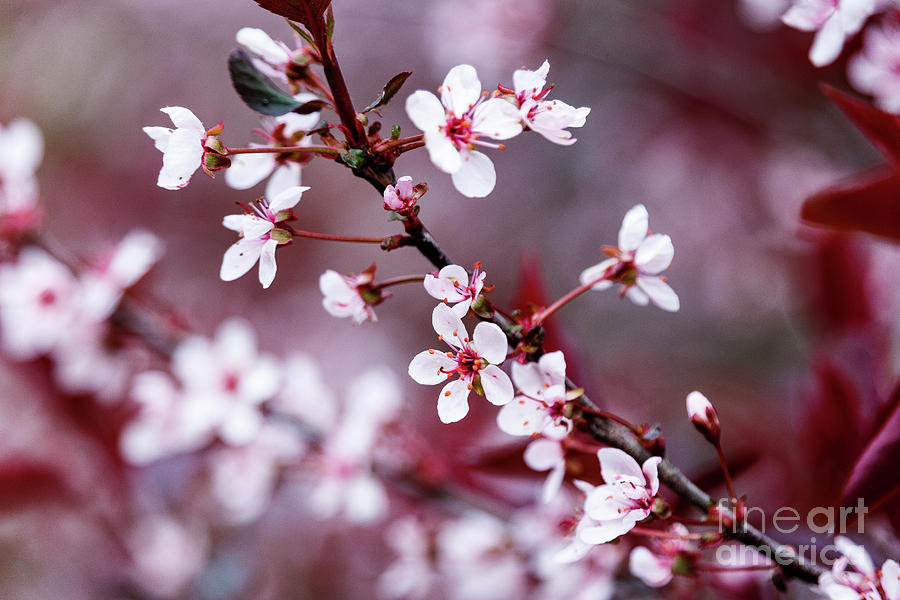
<path id="1" fill-rule="evenodd" d="M 222 124 L 207 130 L 193 112 L 181 106 L 167 106 L 160 111 L 169 115 L 175 129 L 144 127 L 144 133 L 163 153 L 163 167 L 156 185 L 177 190 L 190 183 L 209 148 L 215 148 L 217 152 L 224 149 L 215 137 L 222 131 Z"/>

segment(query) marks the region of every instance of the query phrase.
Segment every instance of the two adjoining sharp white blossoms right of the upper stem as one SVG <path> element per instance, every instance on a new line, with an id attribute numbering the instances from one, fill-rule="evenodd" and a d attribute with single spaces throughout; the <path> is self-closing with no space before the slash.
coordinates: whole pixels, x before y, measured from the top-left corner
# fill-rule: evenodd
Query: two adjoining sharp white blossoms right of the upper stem
<path id="1" fill-rule="evenodd" d="M 498 86 L 498 94 L 486 98 L 475 68 L 459 65 L 444 78 L 440 99 L 423 90 L 407 98 L 406 113 L 424 132 L 431 161 L 451 175 L 461 194 L 483 198 L 496 184 L 494 164 L 476 147 L 504 146 L 482 138 L 503 141 L 531 129 L 557 144 L 575 142 L 567 129 L 583 126 L 590 108 L 547 100 L 549 70 L 550 63 L 544 61 L 537 71 L 517 71 L 514 89 Z"/>

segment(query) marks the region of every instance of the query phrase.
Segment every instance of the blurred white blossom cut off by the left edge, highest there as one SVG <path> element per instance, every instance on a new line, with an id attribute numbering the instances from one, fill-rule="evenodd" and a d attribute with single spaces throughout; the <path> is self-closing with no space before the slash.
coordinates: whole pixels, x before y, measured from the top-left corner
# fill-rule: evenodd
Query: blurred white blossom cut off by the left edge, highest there
<path id="1" fill-rule="evenodd" d="M 32 121 L 17 118 L 0 126 L 0 217 L 33 224 L 38 184 L 34 174 L 44 156 L 44 136 Z"/>

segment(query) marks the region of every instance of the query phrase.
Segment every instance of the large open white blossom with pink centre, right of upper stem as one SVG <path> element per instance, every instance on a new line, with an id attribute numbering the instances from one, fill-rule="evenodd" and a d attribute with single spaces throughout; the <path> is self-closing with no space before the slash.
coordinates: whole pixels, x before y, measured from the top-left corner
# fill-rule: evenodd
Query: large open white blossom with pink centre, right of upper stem
<path id="1" fill-rule="evenodd" d="M 464 196 L 483 198 L 497 180 L 494 164 L 475 146 L 501 148 L 481 137 L 506 140 L 522 132 L 519 112 L 501 98 L 485 100 L 474 67 L 450 69 L 441 86 L 441 99 L 419 90 L 406 99 L 406 113 L 425 132 L 431 162 L 450 173 Z"/>

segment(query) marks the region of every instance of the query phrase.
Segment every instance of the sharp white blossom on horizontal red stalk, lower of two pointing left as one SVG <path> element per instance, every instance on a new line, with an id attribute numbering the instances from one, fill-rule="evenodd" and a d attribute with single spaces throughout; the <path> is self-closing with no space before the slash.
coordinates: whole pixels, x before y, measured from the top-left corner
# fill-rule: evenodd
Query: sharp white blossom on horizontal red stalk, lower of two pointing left
<path id="1" fill-rule="evenodd" d="M 278 225 L 294 218 L 293 208 L 308 187 L 284 190 L 271 201 L 260 199 L 245 207 L 242 215 L 228 215 L 222 225 L 241 237 L 225 251 L 219 277 L 234 281 L 259 262 L 259 282 L 268 288 L 275 280 L 275 248 L 291 241 L 291 233 Z"/>

